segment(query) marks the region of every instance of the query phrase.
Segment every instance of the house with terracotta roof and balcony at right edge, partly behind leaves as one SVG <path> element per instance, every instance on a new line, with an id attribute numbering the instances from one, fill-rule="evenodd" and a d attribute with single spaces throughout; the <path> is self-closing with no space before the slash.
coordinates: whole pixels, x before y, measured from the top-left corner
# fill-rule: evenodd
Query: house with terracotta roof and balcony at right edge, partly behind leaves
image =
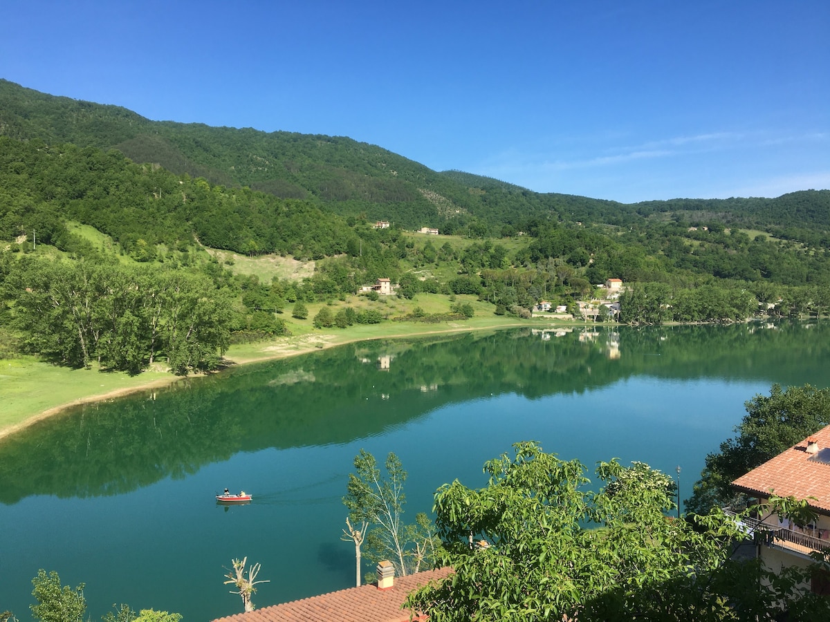
<path id="1" fill-rule="evenodd" d="M 775 514 L 757 523 L 769 536 L 759 547 L 759 556 L 770 569 L 806 567 L 810 552 L 830 547 L 830 425 L 735 479 L 732 486 L 761 503 L 771 494 L 805 499 L 818 513 L 811 525 L 796 525 Z M 813 581 L 813 591 L 830 594 L 828 588 L 826 577 Z"/>

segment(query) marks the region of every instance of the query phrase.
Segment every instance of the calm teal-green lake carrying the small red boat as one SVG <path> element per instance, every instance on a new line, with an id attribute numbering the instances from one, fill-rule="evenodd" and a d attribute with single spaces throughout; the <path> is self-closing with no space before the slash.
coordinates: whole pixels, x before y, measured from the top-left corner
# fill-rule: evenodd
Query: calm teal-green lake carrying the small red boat
<path id="1" fill-rule="evenodd" d="M 341 498 L 359 449 L 403 461 L 409 521 L 520 440 L 591 469 L 680 465 L 686 498 L 773 383 L 830 386 L 830 324 L 381 340 L 79 407 L 0 442 L 0 610 L 31 619 L 39 568 L 84 582 L 92 620 L 114 603 L 240 612 L 222 581 L 243 556 L 270 580 L 260 607 L 353 586 Z M 225 487 L 254 500 L 222 507 Z"/>

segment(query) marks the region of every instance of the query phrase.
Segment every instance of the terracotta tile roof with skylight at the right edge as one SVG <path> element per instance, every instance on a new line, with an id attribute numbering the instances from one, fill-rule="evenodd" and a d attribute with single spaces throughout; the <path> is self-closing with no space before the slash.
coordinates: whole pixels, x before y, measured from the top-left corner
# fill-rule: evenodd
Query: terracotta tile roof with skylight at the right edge
<path id="1" fill-rule="evenodd" d="M 808 439 L 815 440 L 819 450 L 830 447 L 830 425 Z M 808 439 L 735 479 L 732 485 L 760 497 L 768 496 L 770 490 L 780 497 L 815 497 L 808 499 L 810 505 L 830 514 L 830 464 L 809 459 L 812 454 L 806 452 Z"/>

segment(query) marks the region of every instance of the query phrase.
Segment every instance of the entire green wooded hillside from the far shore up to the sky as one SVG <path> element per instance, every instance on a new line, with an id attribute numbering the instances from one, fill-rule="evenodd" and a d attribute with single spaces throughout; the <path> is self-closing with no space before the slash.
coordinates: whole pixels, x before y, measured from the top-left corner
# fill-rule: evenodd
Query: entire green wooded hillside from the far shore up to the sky
<path id="1" fill-rule="evenodd" d="M 217 249 L 315 260 L 315 273 L 261 280 Z M 830 191 L 623 205 L 437 173 L 350 138 L 155 122 L 0 80 L 0 356 L 208 369 L 240 335 L 286 333 L 289 310 L 309 328 L 394 319 L 356 296 L 382 277 L 403 299 L 466 294 L 520 317 L 543 299 L 592 321 L 820 316 Z M 626 284 L 619 313 L 579 306 L 612 277 Z M 324 306 L 308 318 L 305 304 Z"/>

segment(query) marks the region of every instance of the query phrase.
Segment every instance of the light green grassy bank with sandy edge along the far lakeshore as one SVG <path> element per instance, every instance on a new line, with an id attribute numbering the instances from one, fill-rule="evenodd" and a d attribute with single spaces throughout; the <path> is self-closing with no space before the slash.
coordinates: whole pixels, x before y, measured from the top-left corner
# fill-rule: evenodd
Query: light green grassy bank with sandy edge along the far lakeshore
<path id="1" fill-rule="evenodd" d="M 383 322 L 356 325 L 347 330 L 315 330 L 276 338 L 267 342 L 232 346 L 225 355 L 230 366 L 294 357 L 320 349 L 372 339 L 408 338 L 441 333 L 466 333 L 477 330 L 579 324 L 555 323 L 547 318 L 521 320 L 497 316 L 476 317 L 465 322 L 439 324 Z M 218 372 L 221 373 L 221 372 Z M 56 367 L 36 357 L 0 359 L 0 440 L 24 430 L 37 421 L 60 415 L 72 406 L 106 401 L 137 391 L 169 386 L 182 377 L 159 368 L 129 376 L 124 372 L 99 372 L 97 369 Z"/>

